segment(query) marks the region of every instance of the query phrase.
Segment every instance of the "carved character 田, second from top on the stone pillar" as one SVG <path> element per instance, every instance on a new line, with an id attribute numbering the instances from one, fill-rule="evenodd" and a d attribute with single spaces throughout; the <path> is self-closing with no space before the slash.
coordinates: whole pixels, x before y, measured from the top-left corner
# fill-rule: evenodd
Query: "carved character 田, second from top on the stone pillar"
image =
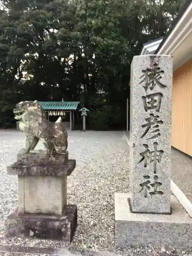
<path id="1" fill-rule="evenodd" d="M 144 110 L 147 112 L 148 110 L 155 109 L 157 112 L 159 112 L 161 108 L 162 97 L 163 97 L 162 93 L 153 93 L 153 94 L 148 94 L 146 96 L 142 96 Z"/>

